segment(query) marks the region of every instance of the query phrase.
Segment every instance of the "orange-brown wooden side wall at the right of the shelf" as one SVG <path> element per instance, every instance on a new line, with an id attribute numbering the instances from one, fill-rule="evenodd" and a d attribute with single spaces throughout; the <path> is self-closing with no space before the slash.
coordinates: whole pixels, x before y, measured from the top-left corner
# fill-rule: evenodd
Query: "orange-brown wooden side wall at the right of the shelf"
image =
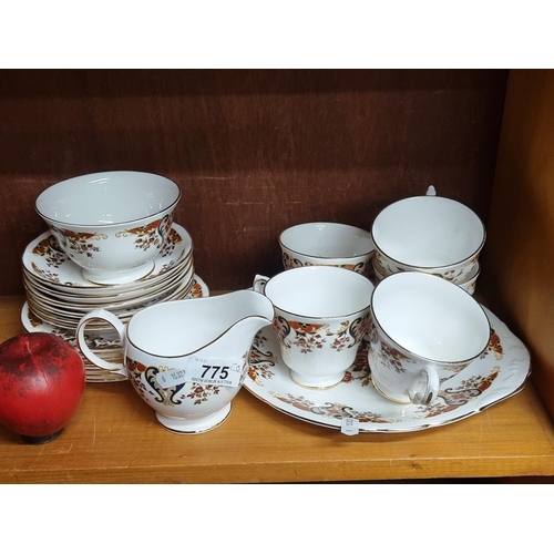
<path id="1" fill-rule="evenodd" d="M 554 71 L 512 70 L 481 289 L 527 345 L 554 417 Z"/>

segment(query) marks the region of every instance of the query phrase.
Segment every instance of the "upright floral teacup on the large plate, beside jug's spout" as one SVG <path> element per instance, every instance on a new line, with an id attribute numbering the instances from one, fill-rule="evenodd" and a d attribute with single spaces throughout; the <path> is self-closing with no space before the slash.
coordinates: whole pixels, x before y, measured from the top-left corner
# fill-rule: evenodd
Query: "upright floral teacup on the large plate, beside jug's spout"
<path id="1" fill-rule="evenodd" d="M 371 281 L 339 267 L 297 267 L 256 276 L 254 290 L 274 305 L 273 326 L 290 378 L 307 388 L 339 383 L 367 331 Z"/>

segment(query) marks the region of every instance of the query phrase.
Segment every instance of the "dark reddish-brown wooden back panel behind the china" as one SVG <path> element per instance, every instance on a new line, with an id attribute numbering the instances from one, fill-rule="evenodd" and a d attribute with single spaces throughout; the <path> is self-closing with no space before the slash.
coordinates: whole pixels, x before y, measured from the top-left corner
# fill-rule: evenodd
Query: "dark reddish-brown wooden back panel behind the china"
<path id="1" fill-rule="evenodd" d="M 85 173 L 178 183 L 176 222 L 213 289 L 283 269 L 308 220 L 369 229 L 399 198 L 439 194 L 486 218 L 507 71 L 0 71 L 0 295 L 45 230 L 34 199 Z"/>

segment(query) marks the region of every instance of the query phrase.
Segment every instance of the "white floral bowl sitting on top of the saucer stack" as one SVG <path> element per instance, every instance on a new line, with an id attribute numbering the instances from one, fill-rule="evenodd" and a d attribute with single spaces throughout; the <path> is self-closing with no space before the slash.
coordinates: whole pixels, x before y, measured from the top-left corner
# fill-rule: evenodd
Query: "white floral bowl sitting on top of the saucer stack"
<path id="1" fill-rule="evenodd" d="M 86 280 L 120 284 L 154 269 L 179 198 L 166 177 L 117 171 L 57 183 L 39 195 L 35 209 Z"/>

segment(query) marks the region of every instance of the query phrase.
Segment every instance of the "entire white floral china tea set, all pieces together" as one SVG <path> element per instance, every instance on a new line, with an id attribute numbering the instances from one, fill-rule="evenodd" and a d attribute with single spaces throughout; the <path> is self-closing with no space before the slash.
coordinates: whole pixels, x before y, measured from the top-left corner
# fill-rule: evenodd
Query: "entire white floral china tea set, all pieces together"
<path id="1" fill-rule="evenodd" d="M 138 172 L 58 183 L 37 199 L 49 232 L 23 256 L 24 309 L 65 329 L 88 380 L 129 379 L 164 429 L 216 429 L 246 388 L 314 424 L 406 432 L 523 386 L 529 352 L 472 296 L 485 227 L 463 204 L 428 192 L 387 206 L 370 232 L 289 227 L 283 271 L 209 296 L 202 281 L 193 294 L 179 198 L 172 181 Z"/>

